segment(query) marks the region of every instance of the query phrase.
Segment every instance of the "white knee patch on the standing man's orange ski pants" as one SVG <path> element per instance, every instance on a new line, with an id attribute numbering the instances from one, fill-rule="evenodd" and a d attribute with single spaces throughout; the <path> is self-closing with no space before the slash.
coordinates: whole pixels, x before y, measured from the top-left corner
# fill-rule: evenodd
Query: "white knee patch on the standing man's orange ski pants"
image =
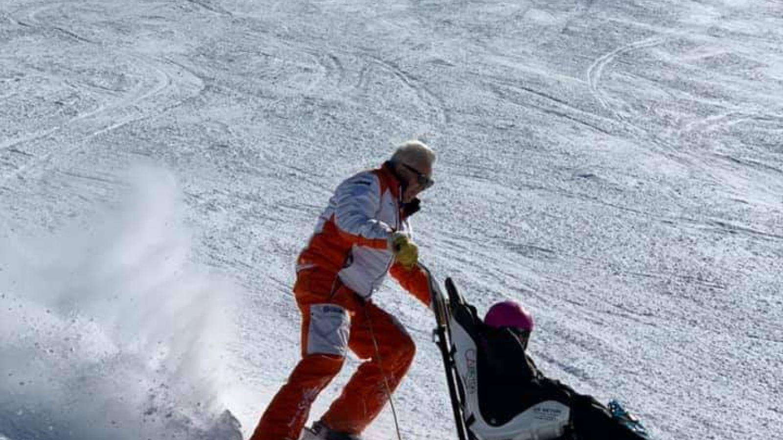
<path id="1" fill-rule="evenodd" d="M 334 304 L 311 305 L 306 353 L 345 356 L 350 329 L 351 318 L 345 308 Z"/>

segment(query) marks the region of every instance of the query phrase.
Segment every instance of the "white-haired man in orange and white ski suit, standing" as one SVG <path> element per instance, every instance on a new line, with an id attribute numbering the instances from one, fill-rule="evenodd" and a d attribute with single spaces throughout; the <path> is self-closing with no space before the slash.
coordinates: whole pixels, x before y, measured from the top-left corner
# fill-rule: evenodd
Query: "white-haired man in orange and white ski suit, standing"
<path id="1" fill-rule="evenodd" d="M 294 297 L 301 311 L 301 360 L 269 403 L 250 440 L 298 440 L 312 402 L 337 375 L 350 349 L 365 359 L 312 431 L 355 440 L 405 375 L 416 348 L 370 297 L 387 272 L 425 305 L 426 274 L 410 238 L 417 195 L 433 185 L 435 153 L 405 142 L 381 168 L 342 182 L 297 260 Z"/>

